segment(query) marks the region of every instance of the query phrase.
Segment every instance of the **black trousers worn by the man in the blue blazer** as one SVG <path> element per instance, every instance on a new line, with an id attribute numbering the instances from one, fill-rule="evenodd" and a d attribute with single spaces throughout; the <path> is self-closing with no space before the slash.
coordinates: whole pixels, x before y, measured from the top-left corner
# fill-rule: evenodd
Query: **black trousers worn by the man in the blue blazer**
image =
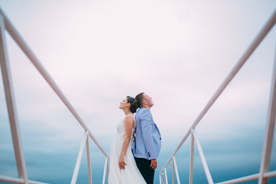
<path id="1" fill-rule="evenodd" d="M 136 158 L 136 165 L 147 184 L 153 184 L 154 170 L 151 169 L 151 161 L 144 158 Z"/>

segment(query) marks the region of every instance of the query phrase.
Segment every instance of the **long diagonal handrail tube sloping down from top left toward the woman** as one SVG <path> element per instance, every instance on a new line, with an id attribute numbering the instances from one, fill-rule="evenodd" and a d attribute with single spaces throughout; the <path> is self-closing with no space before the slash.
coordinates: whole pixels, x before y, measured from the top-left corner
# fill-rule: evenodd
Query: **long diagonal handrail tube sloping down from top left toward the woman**
<path id="1" fill-rule="evenodd" d="M 93 134 L 90 132 L 86 124 L 82 121 L 79 114 L 76 112 L 76 110 L 73 108 L 71 103 L 67 100 L 65 95 L 62 93 L 62 91 L 59 89 L 55 81 L 52 79 L 52 77 L 49 75 L 49 73 L 45 70 L 43 65 L 40 63 L 38 58 L 35 56 L 35 54 L 32 52 L 32 50 L 29 48 L 29 46 L 26 44 L 24 39 L 20 36 L 20 34 L 17 32 L 13 24 L 10 22 L 8 17 L 5 15 L 5 13 L 0 9 L 0 14 L 4 17 L 4 22 L 6 26 L 6 30 L 8 33 L 10 33 L 10 36 L 13 37 L 14 41 L 18 44 L 18 46 L 22 49 L 22 51 L 26 54 L 26 56 L 30 59 L 30 61 L 33 63 L 33 65 L 36 67 L 36 69 L 39 71 L 39 73 L 43 76 L 43 78 L 48 82 L 48 84 L 52 87 L 52 89 L 55 91 L 55 93 L 58 95 L 58 97 L 61 99 L 61 101 L 66 105 L 66 107 L 70 110 L 70 112 L 73 114 L 73 116 L 79 121 L 79 124 L 82 125 L 82 128 L 84 130 L 88 130 L 89 136 L 91 139 L 95 142 L 95 144 L 100 148 L 100 150 L 103 152 L 103 154 L 108 157 L 105 150 L 102 148 L 102 146 L 98 143 L 96 138 L 93 136 Z"/>

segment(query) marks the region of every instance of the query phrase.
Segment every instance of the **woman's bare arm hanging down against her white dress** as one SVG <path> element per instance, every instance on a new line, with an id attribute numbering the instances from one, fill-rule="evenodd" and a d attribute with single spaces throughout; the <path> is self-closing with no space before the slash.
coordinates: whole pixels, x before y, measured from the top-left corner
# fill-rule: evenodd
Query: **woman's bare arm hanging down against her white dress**
<path id="1" fill-rule="evenodd" d="M 125 169 L 125 153 L 128 149 L 128 144 L 131 138 L 131 133 L 132 133 L 132 127 L 133 127 L 133 118 L 131 115 L 126 115 L 125 117 L 125 139 L 123 142 L 121 154 L 120 154 L 120 159 L 119 159 L 119 167 L 120 169 Z"/>

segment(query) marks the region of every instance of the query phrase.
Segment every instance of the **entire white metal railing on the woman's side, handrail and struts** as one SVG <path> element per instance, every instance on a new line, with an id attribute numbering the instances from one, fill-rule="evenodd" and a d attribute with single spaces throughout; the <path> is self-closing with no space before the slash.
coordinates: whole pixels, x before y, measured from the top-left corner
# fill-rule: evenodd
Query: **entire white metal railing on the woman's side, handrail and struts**
<path id="1" fill-rule="evenodd" d="M 23 153 L 22 143 L 21 143 L 20 130 L 18 127 L 15 98 L 14 98 L 14 94 L 13 94 L 13 85 L 12 85 L 12 79 L 11 79 L 11 74 L 10 74 L 8 52 L 7 52 L 7 47 L 6 47 L 5 30 L 7 30 L 7 32 L 10 33 L 10 35 L 12 36 L 14 41 L 19 45 L 19 47 L 22 49 L 22 51 L 30 59 L 30 61 L 33 63 L 33 65 L 36 67 L 36 69 L 40 72 L 40 74 L 43 76 L 43 78 L 48 82 L 48 84 L 52 87 L 52 89 L 55 91 L 55 93 L 59 96 L 61 101 L 66 105 L 66 107 L 70 110 L 70 112 L 74 115 L 74 117 L 77 119 L 77 121 L 79 121 L 79 124 L 84 129 L 84 136 L 83 136 L 81 147 L 79 150 L 79 155 L 78 155 L 77 162 L 75 165 L 75 170 L 74 170 L 74 173 L 72 176 L 71 184 L 76 183 L 85 142 L 86 142 L 89 184 L 92 184 L 88 136 L 91 137 L 91 139 L 95 142 L 95 144 L 98 146 L 98 148 L 105 155 L 105 167 L 104 167 L 103 182 L 102 182 L 104 184 L 105 183 L 105 175 L 107 173 L 107 177 L 108 177 L 108 174 L 109 174 L 109 169 L 108 169 L 109 156 L 107 155 L 105 150 L 102 148 L 102 146 L 98 143 L 98 141 L 93 136 L 93 134 L 90 132 L 90 130 L 86 126 L 86 124 L 82 121 L 81 117 L 76 112 L 74 107 L 71 105 L 71 103 L 67 100 L 67 98 L 64 96 L 62 91 L 56 85 L 55 81 L 45 70 L 43 65 L 39 62 L 39 60 L 34 55 L 32 50 L 28 47 L 28 45 L 25 43 L 23 38 L 20 36 L 20 34 L 14 28 L 13 24 L 10 22 L 10 20 L 7 18 L 5 13 L 1 10 L 1 8 L 0 8 L 0 64 L 1 64 L 3 84 L 4 84 L 4 90 L 5 90 L 5 96 L 6 96 L 6 104 L 7 104 L 9 120 L 10 120 L 11 134 L 12 134 L 12 139 L 13 139 L 13 148 L 14 148 L 15 159 L 16 159 L 16 164 L 17 164 L 17 172 L 18 172 L 19 178 L 6 177 L 6 176 L 0 175 L 0 182 L 24 183 L 24 184 L 45 184 L 42 182 L 31 181 L 28 179 L 26 163 L 25 163 L 25 158 L 24 158 L 24 153 Z"/>

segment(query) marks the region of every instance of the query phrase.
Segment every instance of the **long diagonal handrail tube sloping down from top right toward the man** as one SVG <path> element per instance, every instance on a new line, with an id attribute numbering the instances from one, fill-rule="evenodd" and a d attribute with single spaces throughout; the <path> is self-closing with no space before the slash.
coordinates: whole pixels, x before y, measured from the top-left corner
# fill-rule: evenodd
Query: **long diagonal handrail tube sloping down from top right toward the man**
<path id="1" fill-rule="evenodd" d="M 167 163 L 164 165 L 163 169 L 160 171 L 160 173 L 163 172 L 164 168 L 167 167 L 168 163 L 171 161 L 172 156 L 176 154 L 176 152 L 179 150 L 179 148 L 182 146 L 184 141 L 187 139 L 187 137 L 191 133 L 191 128 L 195 128 L 199 121 L 202 119 L 202 117 L 207 113 L 207 111 L 210 109 L 210 107 L 213 105 L 213 103 L 217 100 L 217 98 L 220 96 L 220 94 L 224 91 L 226 86 L 231 82 L 231 80 L 234 78 L 234 76 L 238 73 L 240 68 L 243 66 L 243 64 L 246 62 L 246 60 L 251 56 L 251 54 L 254 52 L 254 50 L 257 48 L 257 46 L 261 43 L 263 38 L 267 35 L 267 33 L 272 29 L 276 22 L 276 10 L 273 12 L 273 14 L 270 16 L 266 24 L 263 26 L 263 28 L 260 30 L 260 32 L 257 34 L 255 39 L 251 42 L 251 44 L 248 46 L 246 51 L 243 53 L 241 58 L 238 60 L 236 65 L 233 67 L 233 69 L 230 71 L 230 73 L 227 75 L 227 77 L 224 79 L 222 84 L 219 86 L 215 94 L 211 97 L 209 102 L 205 105 L 201 113 L 198 115 L 192 126 L 187 131 L 186 135 L 183 137 L 183 139 L 178 144 L 177 148 L 174 150 L 173 154 L 167 161 Z"/>

